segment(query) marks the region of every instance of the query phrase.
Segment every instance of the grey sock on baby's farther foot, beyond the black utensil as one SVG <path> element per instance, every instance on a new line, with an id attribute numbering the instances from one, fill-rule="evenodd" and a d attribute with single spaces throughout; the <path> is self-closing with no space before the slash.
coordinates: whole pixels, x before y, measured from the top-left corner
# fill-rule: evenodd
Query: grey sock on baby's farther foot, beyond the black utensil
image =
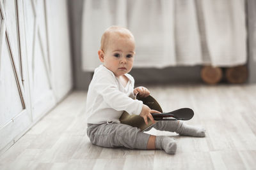
<path id="1" fill-rule="evenodd" d="M 203 127 L 195 127 L 192 125 L 184 124 L 179 122 L 180 126 L 177 129 L 177 133 L 182 136 L 195 136 L 195 137 L 205 137 L 205 129 Z"/>

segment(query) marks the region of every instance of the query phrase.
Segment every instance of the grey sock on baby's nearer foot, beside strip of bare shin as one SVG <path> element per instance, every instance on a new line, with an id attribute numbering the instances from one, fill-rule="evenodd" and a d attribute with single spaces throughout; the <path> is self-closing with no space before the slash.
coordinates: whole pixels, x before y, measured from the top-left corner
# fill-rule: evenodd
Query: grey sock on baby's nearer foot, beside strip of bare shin
<path id="1" fill-rule="evenodd" d="M 175 154 L 177 145 L 173 138 L 167 136 L 156 136 L 156 148 L 164 150 L 168 154 Z"/>

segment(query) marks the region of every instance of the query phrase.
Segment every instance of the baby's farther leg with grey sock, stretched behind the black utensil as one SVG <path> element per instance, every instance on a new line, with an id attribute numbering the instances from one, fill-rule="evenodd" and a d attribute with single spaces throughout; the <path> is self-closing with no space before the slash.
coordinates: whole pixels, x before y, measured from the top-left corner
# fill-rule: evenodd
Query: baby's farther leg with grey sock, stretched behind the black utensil
<path id="1" fill-rule="evenodd" d="M 166 120 L 159 121 L 154 125 L 154 128 L 160 131 L 177 132 L 184 136 L 205 137 L 205 129 L 187 125 L 182 121 Z"/>

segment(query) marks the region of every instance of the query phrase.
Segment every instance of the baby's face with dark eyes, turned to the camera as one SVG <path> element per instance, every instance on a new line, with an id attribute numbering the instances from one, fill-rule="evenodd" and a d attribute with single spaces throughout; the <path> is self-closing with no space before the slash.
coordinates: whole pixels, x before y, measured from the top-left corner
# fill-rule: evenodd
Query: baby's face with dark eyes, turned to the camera
<path id="1" fill-rule="evenodd" d="M 115 76 L 129 73 L 133 66 L 134 50 L 134 39 L 114 36 L 109 39 L 108 48 L 104 52 L 103 64 Z"/>

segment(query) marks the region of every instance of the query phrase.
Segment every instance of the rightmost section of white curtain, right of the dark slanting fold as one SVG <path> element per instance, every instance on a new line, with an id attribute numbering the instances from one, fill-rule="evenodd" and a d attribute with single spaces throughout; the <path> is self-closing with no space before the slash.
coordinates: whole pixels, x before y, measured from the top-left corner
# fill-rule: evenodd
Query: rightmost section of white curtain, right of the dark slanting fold
<path id="1" fill-rule="evenodd" d="M 246 20 L 242 0 L 201 1 L 205 35 L 213 66 L 246 62 Z"/>

